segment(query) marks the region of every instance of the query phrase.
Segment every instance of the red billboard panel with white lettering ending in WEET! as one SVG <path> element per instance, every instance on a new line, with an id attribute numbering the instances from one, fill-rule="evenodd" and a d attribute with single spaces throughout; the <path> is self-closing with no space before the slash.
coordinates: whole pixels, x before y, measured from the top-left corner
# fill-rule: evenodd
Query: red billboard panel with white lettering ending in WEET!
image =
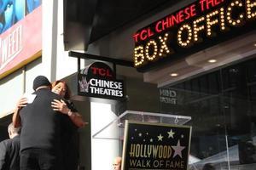
<path id="1" fill-rule="evenodd" d="M 42 50 L 42 7 L 0 35 L 0 78 L 39 56 Z"/>

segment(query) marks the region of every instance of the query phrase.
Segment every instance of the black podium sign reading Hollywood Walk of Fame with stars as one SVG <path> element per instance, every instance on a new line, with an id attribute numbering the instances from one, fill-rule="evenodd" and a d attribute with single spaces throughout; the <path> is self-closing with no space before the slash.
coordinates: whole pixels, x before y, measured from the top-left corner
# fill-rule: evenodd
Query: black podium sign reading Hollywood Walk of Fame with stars
<path id="1" fill-rule="evenodd" d="M 125 122 L 122 170 L 186 170 L 191 127 Z"/>

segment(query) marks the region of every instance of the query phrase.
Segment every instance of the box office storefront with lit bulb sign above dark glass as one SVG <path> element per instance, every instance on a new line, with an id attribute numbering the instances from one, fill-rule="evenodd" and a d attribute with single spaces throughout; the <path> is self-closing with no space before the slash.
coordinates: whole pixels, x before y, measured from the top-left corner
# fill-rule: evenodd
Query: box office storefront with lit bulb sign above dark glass
<path id="1" fill-rule="evenodd" d="M 158 84 L 160 112 L 192 117 L 189 169 L 255 168 L 254 6 L 195 1 L 133 35 L 135 66 Z"/>

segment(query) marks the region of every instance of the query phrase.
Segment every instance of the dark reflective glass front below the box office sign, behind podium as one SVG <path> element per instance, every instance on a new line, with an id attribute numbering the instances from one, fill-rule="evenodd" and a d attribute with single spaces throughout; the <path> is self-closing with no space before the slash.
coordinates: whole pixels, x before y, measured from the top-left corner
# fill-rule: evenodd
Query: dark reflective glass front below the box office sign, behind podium
<path id="1" fill-rule="evenodd" d="M 256 59 L 160 88 L 160 112 L 191 116 L 190 169 L 255 169 Z"/>

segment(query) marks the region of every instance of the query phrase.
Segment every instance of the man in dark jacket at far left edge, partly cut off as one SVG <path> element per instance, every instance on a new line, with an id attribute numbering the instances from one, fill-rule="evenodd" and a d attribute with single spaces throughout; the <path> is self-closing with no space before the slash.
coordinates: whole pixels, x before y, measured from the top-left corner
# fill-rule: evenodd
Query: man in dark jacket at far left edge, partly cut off
<path id="1" fill-rule="evenodd" d="M 0 170 L 20 170 L 20 128 L 10 123 L 8 133 L 0 143 Z"/>

